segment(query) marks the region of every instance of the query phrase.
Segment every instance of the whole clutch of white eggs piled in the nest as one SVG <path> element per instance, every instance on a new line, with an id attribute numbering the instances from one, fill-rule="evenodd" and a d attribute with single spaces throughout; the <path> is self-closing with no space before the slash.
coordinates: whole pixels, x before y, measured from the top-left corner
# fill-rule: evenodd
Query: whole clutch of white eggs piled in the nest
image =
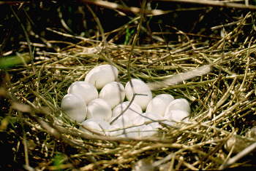
<path id="1" fill-rule="evenodd" d="M 131 79 L 124 86 L 113 65 L 99 65 L 75 81 L 61 100 L 61 111 L 88 134 L 123 138 L 152 136 L 162 124 L 187 122 L 191 109 L 184 98 L 161 94 L 154 98 L 148 85 Z M 127 100 L 127 101 L 125 101 Z"/>

